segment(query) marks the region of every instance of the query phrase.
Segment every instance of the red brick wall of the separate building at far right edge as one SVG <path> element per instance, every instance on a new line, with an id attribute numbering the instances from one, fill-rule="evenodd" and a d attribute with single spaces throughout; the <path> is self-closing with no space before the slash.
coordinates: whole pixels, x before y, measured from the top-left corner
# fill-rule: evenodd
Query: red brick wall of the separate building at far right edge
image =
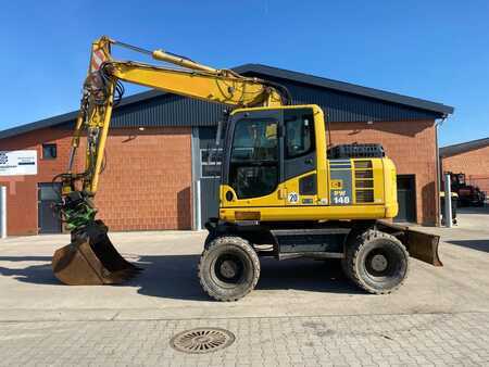
<path id="1" fill-rule="evenodd" d="M 489 147 L 442 159 L 443 172 L 463 173 L 467 184 L 489 192 Z"/>

